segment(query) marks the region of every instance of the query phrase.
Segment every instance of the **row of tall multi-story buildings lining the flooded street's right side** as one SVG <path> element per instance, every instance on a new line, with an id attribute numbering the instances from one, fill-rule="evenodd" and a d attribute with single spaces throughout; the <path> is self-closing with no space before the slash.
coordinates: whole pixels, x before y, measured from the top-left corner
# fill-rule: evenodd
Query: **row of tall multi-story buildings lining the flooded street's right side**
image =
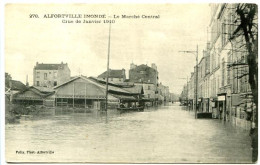
<path id="1" fill-rule="evenodd" d="M 198 64 L 198 102 L 200 111 L 212 112 L 214 118 L 248 129 L 255 105 L 248 82 L 244 36 L 232 37 L 239 24 L 235 21 L 237 5 L 210 5 L 210 40 Z M 192 84 L 188 84 L 189 91 Z"/>

